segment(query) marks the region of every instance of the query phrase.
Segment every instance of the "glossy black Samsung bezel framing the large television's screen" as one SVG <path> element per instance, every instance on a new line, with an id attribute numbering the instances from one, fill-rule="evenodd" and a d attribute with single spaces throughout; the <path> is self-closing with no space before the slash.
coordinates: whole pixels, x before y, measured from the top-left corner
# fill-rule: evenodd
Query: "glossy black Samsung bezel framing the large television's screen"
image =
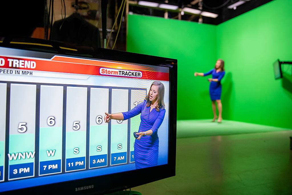
<path id="1" fill-rule="evenodd" d="M 69 44 L 56 41 L 48 41 L 44 39 L 34 39 L 26 37 L 0 37 L 0 47 L 13 49 L 23 49 L 29 51 L 38 51 L 45 53 L 53 53 L 58 55 L 86 57 L 97 60 L 111 60 L 134 64 L 147 64 L 154 66 L 162 66 L 169 68 L 170 87 L 169 87 L 169 137 L 168 137 L 168 164 L 149 167 L 126 172 L 118 172 L 109 175 L 101 175 L 89 177 L 79 180 L 70 180 L 54 184 L 46 184 L 35 187 L 21 188 L 17 190 L 6 191 L 11 192 L 64 192 L 77 194 L 105 194 L 114 191 L 120 191 L 133 188 L 139 185 L 147 184 L 157 180 L 175 176 L 175 156 L 176 156 L 176 112 L 177 112 L 177 60 L 171 58 L 163 58 L 150 56 L 145 54 L 136 54 L 125 51 L 104 49 L 98 47 L 82 46 L 77 44 Z M 13 44 L 13 42 L 35 43 L 37 45 Z M 47 48 L 41 45 L 52 45 L 53 48 Z M 78 51 L 66 50 L 61 48 L 72 48 Z M 54 51 L 55 50 L 55 51 Z M 91 189 L 76 191 L 76 188 L 83 186 L 92 186 Z"/>

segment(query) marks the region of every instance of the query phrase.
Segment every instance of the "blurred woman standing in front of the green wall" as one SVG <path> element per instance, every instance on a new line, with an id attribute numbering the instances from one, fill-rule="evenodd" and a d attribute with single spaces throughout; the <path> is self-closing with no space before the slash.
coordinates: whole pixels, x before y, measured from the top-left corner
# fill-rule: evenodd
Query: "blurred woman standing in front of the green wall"
<path id="1" fill-rule="evenodd" d="M 222 122 L 221 79 L 225 75 L 224 61 L 223 60 L 221 60 L 221 59 L 217 60 L 217 62 L 215 64 L 215 68 L 213 68 L 209 72 L 207 72 L 207 73 L 195 72 L 194 75 L 195 75 L 195 77 L 196 76 L 204 77 L 204 76 L 211 75 L 211 74 L 212 74 L 212 78 L 209 78 L 208 81 L 210 82 L 209 92 L 210 92 L 210 97 L 211 97 L 211 101 L 212 101 L 212 110 L 213 110 L 213 115 L 214 115 L 212 122 L 214 122 L 218 118 L 218 123 L 221 123 Z M 215 102 L 217 103 L 219 116 L 217 116 L 217 114 L 216 114 Z"/>

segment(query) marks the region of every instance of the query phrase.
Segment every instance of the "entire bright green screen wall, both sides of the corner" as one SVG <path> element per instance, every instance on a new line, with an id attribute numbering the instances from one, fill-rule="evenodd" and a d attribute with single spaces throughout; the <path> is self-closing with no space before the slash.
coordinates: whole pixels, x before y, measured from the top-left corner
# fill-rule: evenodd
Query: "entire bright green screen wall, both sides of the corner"
<path id="1" fill-rule="evenodd" d="M 225 60 L 223 119 L 292 128 L 292 1 L 274 0 L 217 26 L 129 15 L 127 51 L 178 59 L 178 120 L 212 118 L 206 72 Z"/>

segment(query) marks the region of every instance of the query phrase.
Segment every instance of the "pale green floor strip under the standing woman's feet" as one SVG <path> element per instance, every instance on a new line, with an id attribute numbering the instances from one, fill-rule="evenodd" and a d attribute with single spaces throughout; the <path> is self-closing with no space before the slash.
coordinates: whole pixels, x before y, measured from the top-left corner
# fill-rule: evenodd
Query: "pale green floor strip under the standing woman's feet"
<path id="1" fill-rule="evenodd" d="M 211 119 L 203 120 L 178 120 L 177 138 L 182 137 L 201 137 L 215 135 L 230 135 L 242 133 L 261 133 L 272 131 L 285 131 L 289 129 L 257 125 L 247 122 L 237 122 L 223 120 L 222 123 L 211 122 Z"/>

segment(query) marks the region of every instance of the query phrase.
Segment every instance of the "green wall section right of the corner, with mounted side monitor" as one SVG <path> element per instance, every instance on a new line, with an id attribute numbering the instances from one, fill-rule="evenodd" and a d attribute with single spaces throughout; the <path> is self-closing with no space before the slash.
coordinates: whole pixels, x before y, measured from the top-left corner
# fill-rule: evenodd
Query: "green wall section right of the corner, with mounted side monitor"
<path id="1" fill-rule="evenodd" d="M 218 25 L 217 55 L 230 77 L 228 119 L 292 128 L 291 66 L 283 66 L 290 75 L 280 80 L 272 69 L 278 58 L 292 61 L 291 0 L 271 1 Z"/>

